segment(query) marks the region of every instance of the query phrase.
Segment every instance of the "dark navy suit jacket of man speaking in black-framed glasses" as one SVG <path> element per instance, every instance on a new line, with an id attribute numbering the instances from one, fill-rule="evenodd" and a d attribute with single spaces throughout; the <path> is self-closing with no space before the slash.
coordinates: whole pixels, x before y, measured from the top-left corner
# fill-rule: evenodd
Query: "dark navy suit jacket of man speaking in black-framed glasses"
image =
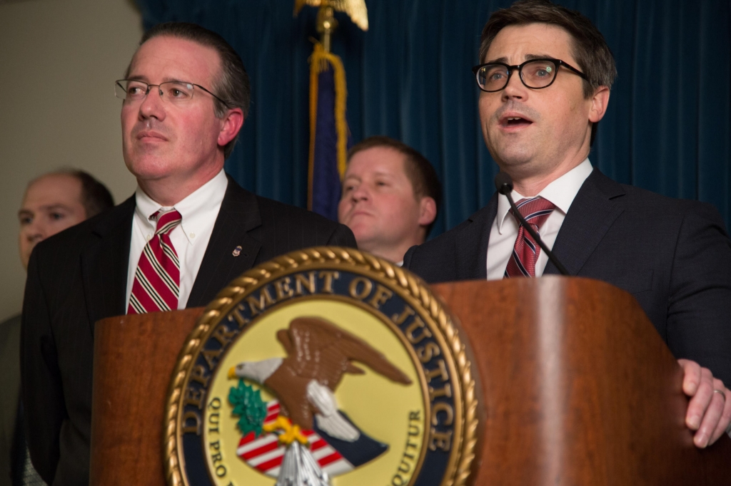
<path id="1" fill-rule="evenodd" d="M 404 267 L 427 282 L 485 279 L 497 195 L 468 220 L 412 247 Z M 676 358 L 731 385 L 731 242 L 710 204 L 621 185 L 594 169 L 553 252 L 569 274 L 631 293 Z M 558 274 L 548 262 L 545 274 Z"/>

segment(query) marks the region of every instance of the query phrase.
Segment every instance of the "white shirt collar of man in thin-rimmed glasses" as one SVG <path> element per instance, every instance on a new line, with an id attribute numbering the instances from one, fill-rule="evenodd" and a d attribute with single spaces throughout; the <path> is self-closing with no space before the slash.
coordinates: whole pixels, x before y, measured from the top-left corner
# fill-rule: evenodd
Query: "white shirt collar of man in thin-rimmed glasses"
<path id="1" fill-rule="evenodd" d="M 194 244 L 196 238 L 191 234 L 202 234 L 203 230 L 215 223 L 218 209 L 224 200 L 224 193 L 228 186 L 228 179 L 224 169 L 216 174 L 213 179 L 190 193 L 186 198 L 175 204 L 175 208 L 183 218 L 181 220 L 181 228 L 183 234 L 190 244 Z M 171 209 L 170 207 L 160 206 L 153 198 L 148 196 L 140 186 L 135 190 L 135 212 L 140 222 L 151 232 L 155 231 L 157 222 L 150 220 L 150 216 L 159 210 Z M 213 215 L 213 217 L 211 217 Z"/>

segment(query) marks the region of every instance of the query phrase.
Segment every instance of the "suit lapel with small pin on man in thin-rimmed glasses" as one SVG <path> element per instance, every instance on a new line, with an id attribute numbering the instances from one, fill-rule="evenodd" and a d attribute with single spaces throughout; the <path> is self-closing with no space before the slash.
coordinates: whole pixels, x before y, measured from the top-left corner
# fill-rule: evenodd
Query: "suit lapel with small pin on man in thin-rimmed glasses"
<path id="1" fill-rule="evenodd" d="M 261 224 L 256 196 L 229 177 L 186 307 L 207 305 L 232 279 L 254 266 L 262 245 L 248 232 Z M 235 255 L 237 247 L 241 248 Z"/>

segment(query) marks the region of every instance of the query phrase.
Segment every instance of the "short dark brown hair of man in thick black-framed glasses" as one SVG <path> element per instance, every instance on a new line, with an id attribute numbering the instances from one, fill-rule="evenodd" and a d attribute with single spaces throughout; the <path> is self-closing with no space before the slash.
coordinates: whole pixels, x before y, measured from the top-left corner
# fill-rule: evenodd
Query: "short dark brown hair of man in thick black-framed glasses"
<path id="1" fill-rule="evenodd" d="M 549 0 L 518 0 L 507 9 L 493 12 L 480 38 L 480 63 L 485 62 L 493 39 L 504 27 L 547 23 L 563 28 L 574 40 L 573 54 L 578 68 L 586 75 L 583 81 L 584 98 L 590 98 L 599 86 L 612 88 L 617 77 L 617 67 L 612 51 L 602 33 L 591 20 L 576 10 L 567 9 Z M 594 142 L 596 125 L 591 126 L 591 142 Z"/>

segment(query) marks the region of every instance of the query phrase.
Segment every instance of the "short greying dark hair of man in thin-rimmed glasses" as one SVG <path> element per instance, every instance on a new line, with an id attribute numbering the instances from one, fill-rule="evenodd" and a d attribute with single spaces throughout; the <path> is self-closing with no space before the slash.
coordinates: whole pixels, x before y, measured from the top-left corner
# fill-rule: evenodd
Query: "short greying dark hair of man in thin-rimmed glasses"
<path id="1" fill-rule="evenodd" d="M 226 39 L 216 34 L 216 32 L 209 31 L 207 28 L 195 23 L 165 22 L 159 23 L 146 31 L 142 36 L 142 40 L 140 40 L 140 46 L 153 37 L 159 36 L 185 39 L 206 47 L 213 47 L 221 58 L 221 73 L 213 81 L 211 91 L 225 101 L 224 104 L 217 99 L 213 100 L 216 117 L 224 117 L 230 108 L 240 108 L 244 118 L 249 115 L 249 104 L 251 103 L 249 74 L 246 73 L 246 68 L 243 67 L 243 61 L 241 61 L 240 55 L 226 42 Z M 134 59 L 133 56 L 132 60 Z M 125 78 L 129 77 L 131 67 L 132 61 L 127 66 L 127 71 L 124 75 Z M 228 158 L 231 155 L 237 140 L 238 134 L 236 134 L 231 142 L 226 144 L 224 147 L 224 158 Z"/>

